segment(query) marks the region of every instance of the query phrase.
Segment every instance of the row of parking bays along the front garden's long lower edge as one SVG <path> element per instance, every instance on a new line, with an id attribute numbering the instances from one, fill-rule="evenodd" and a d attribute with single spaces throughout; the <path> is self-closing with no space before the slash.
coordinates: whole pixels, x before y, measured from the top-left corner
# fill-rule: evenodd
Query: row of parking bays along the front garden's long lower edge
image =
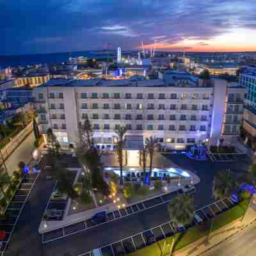
<path id="1" fill-rule="evenodd" d="M 157 196 L 155 198 L 149 199 L 147 201 L 139 202 L 137 204 L 129 205 L 124 207 L 123 209 L 118 209 L 113 212 L 108 212 L 107 218 L 104 222 L 96 224 L 92 222 L 92 219 L 80 221 L 79 223 L 75 223 L 72 225 L 65 226 L 63 228 L 58 228 L 57 230 L 52 230 L 50 232 L 46 232 L 42 234 L 42 243 L 49 243 L 51 241 L 61 239 L 66 236 L 70 236 L 72 234 L 77 234 L 86 229 L 97 227 L 99 225 L 103 225 L 110 221 L 115 221 L 120 218 L 124 218 L 131 214 L 136 214 L 137 212 L 145 211 L 147 209 L 151 209 L 152 207 L 156 207 L 160 204 L 166 204 L 170 202 L 176 195 L 182 194 L 182 189 L 178 191 L 173 191 L 171 193 L 166 193 L 165 195 Z"/>

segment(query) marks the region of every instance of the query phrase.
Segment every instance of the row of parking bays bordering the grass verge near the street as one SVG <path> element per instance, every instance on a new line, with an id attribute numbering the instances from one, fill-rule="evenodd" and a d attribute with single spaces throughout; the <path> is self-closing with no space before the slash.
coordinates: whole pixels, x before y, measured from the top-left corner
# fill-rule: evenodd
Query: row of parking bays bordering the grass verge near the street
<path id="1" fill-rule="evenodd" d="M 202 207 L 195 211 L 195 214 L 200 216 L 202 220 L 206 221 L 211 219 L 213 216 L 220 214 L 221 212 L 227 211 L 231 207 L 234 206 L 234 203 L 229 198 L 224 198 L 222 200 L 218 200 L 210 205 Z M 196 220 L 193 220 L 191 225 L 186 226 L 185 228 L 192 227 L 196 225 Z M 157 227 L 150 228 L 149 230 L 145 230 L 138 234 L 134 234 L 134 236 L 125 237 L 120 241 L 116 241 L 115 243 L 106 244 L 100 247 L 100 251 L 102 252 L 102 256 L 117 256 L 124 255 L 127 253 L 135 252 L 148 245 L 148 234 L 152 234 L 154 236 L 154 241 L 159 241 L 166 237 L 173 236 L 177 232 L 177 227 L 173 221 L 168 221 L 159 225 Z M 93 256 L 92 252 L 81 253 L 77 256 Z"/>

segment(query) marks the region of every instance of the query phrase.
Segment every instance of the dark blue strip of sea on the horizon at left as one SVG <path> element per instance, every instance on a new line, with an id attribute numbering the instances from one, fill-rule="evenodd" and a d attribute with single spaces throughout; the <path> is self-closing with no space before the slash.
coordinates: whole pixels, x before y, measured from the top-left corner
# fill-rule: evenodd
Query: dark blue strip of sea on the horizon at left
<path id="1" fill-rule="evenodd" d="M 79 51 L 79 52 L 57 52 L 47 54 L 28 55 L 0 55 L 0 69 L 7 67 L 25 67 L 36 64 L 59 64 L 68 61 L 72 57 L 87 57 L 95 59 L 107 59 L 113 57 L 112 51 Z"/>

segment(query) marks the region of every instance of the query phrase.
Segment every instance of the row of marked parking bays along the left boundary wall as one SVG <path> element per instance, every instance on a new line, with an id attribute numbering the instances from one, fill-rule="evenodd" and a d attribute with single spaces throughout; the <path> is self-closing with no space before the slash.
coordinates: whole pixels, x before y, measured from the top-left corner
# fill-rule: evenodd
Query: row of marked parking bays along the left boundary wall
<path id="1" fill-rule="evenodd" d="M 6 232 L 6 237 L 0 248 L 1 255 L 3 255 L 5 250 L 8 248 L 8 244 L 10 243 L 13 232 L 15 232 L 15 226 L 19 220 L 22 209 L 29 198 L 31 189 L 33 188 L 38 176 L 39 173 L 28 174 L 27 179 L 21 182 L 19 189 L 17 189 L 10 204 L 6 208 L 6 213 L 10 214 L 10 220 L 0 221 L 0 230 L 5 230 Z"/>

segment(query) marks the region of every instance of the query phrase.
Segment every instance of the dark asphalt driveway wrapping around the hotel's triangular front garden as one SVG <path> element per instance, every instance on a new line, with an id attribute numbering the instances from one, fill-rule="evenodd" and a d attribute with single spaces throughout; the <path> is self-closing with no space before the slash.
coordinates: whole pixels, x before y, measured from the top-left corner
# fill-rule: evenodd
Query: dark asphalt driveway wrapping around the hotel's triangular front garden
<path id="1" fill-rule="evenodd" d="M 217 170 L 234 168 L 236 164 L 198 163 L 181 154 L 168 154 L 173 163 L 195 172 L 200 177 L 200 184 L 196 185 L 196 208 L 210 204 L 212 198 L 212 180 Z M 79 253 L 90 251 L 104 244 L 113 243 L 125 237 L 143 232 L 148 228 L 169 221 L 166 205 L 159 205 L 153 209 L 132 214 L 120 220 L 106 223 L 90 230 L 52 241 L 44 246 L 38 234 L 38 225 L 42 218 L 45 205 L 54 186 L 53 180 L 46 180 L 49 170 L 42 170 L 31 191 L 29 202 L 25 205 L 20 216 L 17 230 L 10 241 L 10 248 L 6 256 L 77 256 Z"/>

